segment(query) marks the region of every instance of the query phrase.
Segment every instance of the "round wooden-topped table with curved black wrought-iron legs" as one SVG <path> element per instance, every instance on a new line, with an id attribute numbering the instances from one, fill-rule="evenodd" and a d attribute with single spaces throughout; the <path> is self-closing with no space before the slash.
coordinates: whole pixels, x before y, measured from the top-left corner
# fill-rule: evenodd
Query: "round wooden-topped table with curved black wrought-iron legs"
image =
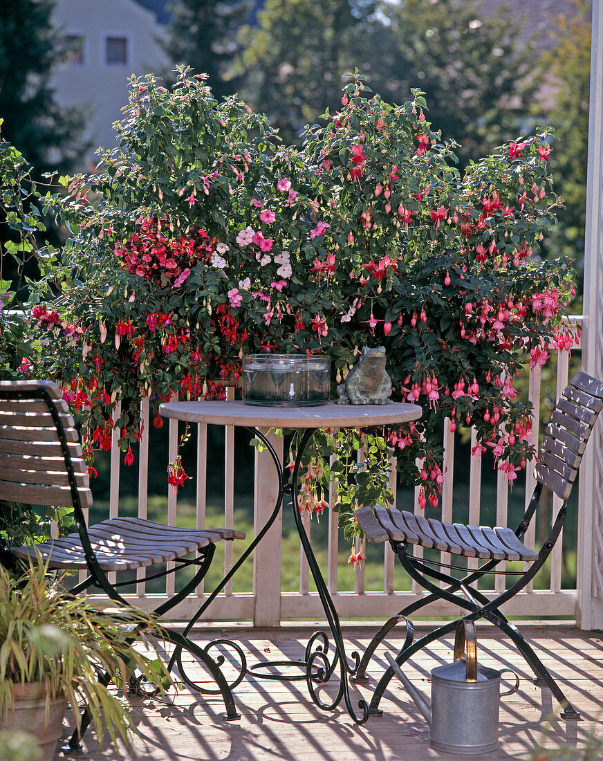
<path id="1" fill-rule="evenodd" d="M 303 527 L 303 522 L 300 516 L 300 511 L 297 509 L 297 480 L 300 470 L 300 465 L 303 457 L 303 451 L 306 445 L 309 443 L 315 431 L 319 428 L 369 428 L 373 426 L 381 425 L 396 425 L 398 423 L 410 422 L 417 420 L 421 417 L 421 407 L 416 404 L 405 404 L 394 402 L 390 404 L 366 404 L 366 405 L 354 405 L 354 404 L 335 404 L 335 402 L 329 402 L 320 406 L 308 406 L 308 407 L 291 407 L 291 406 L 251 406 L 242 401 L 230 401 L 230 402 L 168 402 L 160 405 L 159 413 L 165 418 L 173 418 L 177 420 L 183 420 L 186 422 L 195 423 L 210 423 L 214 425 L 239 425 L 244 428 L 249 428 L 256 438 L 262 441 L 268 452 L 271 454 L 272 460 L 275 464 L 275 469 L 278 476 L 278 498 L 275 502 L 275 508 L 272 511 L 268 521 L 262 527 L 262 530 L 256 534 L 254 540 L 243 552 L 240 559 L 233 565 L 230 571 L 222 579 L 220 584 L 214 589 L 214 591 L 208 596 L 207 600 L 202 604 L 199 610 L 195 613 L 192 619 L 186 626 L 184 634 L 187 635 L 195 622 L 202 616 L 202 613 L 211 604 L 212 600 L 217 594 L 221 592 L 227 581 L 233 577 L 236 571 L 243 565 L 243 562 L 253 552 L 253 549 L 258 545 L 265 533 L 274 523 L 278 517 L 278 513 L 281 511 L 284 495 L 290 495 L 292 499 L 292 508 L 297 527 L 297 533 L 300 536 L 300 542 L 303 547 L 303 552 L 308 560 L 309 569 L 312 572 L 316 589 L 318 590 L 319 597 L 322 603 L 322 607 L 325 610 L 325 616 L 328 621 L 328 625 L 331 629 L 333 639 L 335 642 L 335 658 L 333 661 L 329 661 L 326 655 L 328 636 L 325 632 L 315 632 L 310 638 L 308 645 L 306 646 L 306 653 L 303 661 L 290 661 L 286 664 L 280 662 L 278 664 L 272 663 L 272 666 L 284 666 L 294 665 L 304 670 L 302 676 L 286 676 L 276 675 L 275 673 L 261 673 L 259 668 L 268 665 L 268 662 L 261 664 L 255 664 L 247 669 L 246 662 L 243 656 L 243 663 L 241 665 L 240 677 L 237 678 L 236 683 L 239 683 L 243 678 L 246 670 L 252 671 L 256 677 L 262 677 L 264 679 L 305 679 L 308 685 L 310 696 L 313 702 L 322 708 L 323 710 L 331 710 L 335 708 L 341 702 L 341 698 L 344 698 L 345 704 L 348 708 L 348 712 L 357 724 L 363 724 L 368 718 L 368 705 L 365 700 L 360 700 L 359 707 L 362 709 L 362 715 L 358 717 L 354 711 L 354 707 L 351 704 L 351 698 L 348 686 L 348 674 L 353 675 L 358 667 L 360 658 L 357 654 L 353 654 L 355 661 L 353 665 L 350 665 L 348 657 L 345 654 L 344 641 L 341 635 L 341 626 L 339 624 L 339 617 L 335 610 L 335 604 L 333 603 L 331 595 L 328 593 L 325 580 L 322 578 L 322 573 L 316 558 L 312 546 L 309 543 L 309 539 L 306 534 L 306 530 Z M 305 429 L 300 447 L 295 457 L 295 465 L 293 470 L 293 476 L 291 483 L 287 484 L 283 463 L 279 460 L 274 448 L 271 446 L 270 441 L 259 428 L 303 428 Z M 224 641 L 222 641 L 224 642 Z M 240 648 L 234 645 L 240 653 Z M 314 648 L 314 649 L 313 649 Z M 241 653 L 240 653 L 241 654 Z M 340 670 L 340 688 L 337 696 L 332 702 L 326 704 L 319 699 L 314 689 L 313 683 L 328 681 L 332 673 L 339 664 Z M 236 684 L 235 683 L 235 684 Z"/>

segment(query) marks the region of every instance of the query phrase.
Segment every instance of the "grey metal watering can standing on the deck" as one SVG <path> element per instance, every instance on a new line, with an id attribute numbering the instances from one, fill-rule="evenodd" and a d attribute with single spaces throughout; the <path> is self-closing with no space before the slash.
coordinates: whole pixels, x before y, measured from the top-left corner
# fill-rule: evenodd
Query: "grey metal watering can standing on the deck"
<path id="1" fill-rule="evenodd" d="M 465 642 L 467 656 L 466 661 L 463 661 Z M 496 750 L 500 696 L 514 693 L 519 687 L 519 677 L 510 669 L 497 671 L 478 665 L 474 622 L 459 621 L 455 634 L 454 662 L 432 670 L 431 705 L 389 653 L 386 653 L 386 658 L 427 719 L 432 748 L 464 756 Z M 505 671 L 513 673 L 515 685 L 500 693 L 500 677 Z"/>

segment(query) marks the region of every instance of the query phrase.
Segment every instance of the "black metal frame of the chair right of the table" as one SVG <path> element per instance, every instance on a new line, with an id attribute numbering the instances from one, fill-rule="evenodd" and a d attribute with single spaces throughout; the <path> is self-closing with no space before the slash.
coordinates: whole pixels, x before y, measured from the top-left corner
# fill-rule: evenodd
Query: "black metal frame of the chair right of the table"
<path id="1" fill-rule="evenodd" d="M 592 381 L 593 384 L 596 384 L 596 390 L 598 391 L 596 396 L 598 396 L 599 399 L 603 399 L 603 383 L 595 380 L 594 378 L 590 378 L 583 373 L 577 374 L 575 378 L 579 376 L 582 376 L 583 378 Z M 567 387 L 566 391 L 569 388 L 570 387 Z M 596 414 L 598 414 L 598 411 Z M 592 430 L 593 426 L 594 421 L 592 422 L 590 430 Z M 575 473 L 573 477 L 575 478 L 578 470 L 577 466 L 574 470 Z M 532 498 L 528 503 L 528 507 L 525 510 L 522 521 L 520 521 L 519 526 L 515 531 L 515 535 L 519 540 L 521 540 L 525 535 L 528 527 L 532 522 L 532 519 L 535 517 L 542 493 L 543 482 L 539 481 L 536 483 L 534 492 L 532 493 Z M 540 552 L 538 552 L 538 559 L 532 562 L 532 564 L 529 565 L 525 571 L 498 571 L 496 566 L 501 562 L 505 562 L 504 560 L 499 559 L 488 559 L 483 562 L 482 565 L 478 568 L 468 571 L 466 568 L 462 568 L 461 566 L 446 565 L 436 561 L 430 561 L 428 559 L 416 557 L 412 554 L 412 552 L 409 551 L 411 544 L 407 542 L 396 542 L 394 540 L 390 540 L 390 545 L 398 556 L 398 559 L 400 560 L 403 568 L 405 568 L 406 572 L 408 572 L 408 575 L 410 575 L 411 578 L 417 582 L 417 584 L 420 584 L 421 587 L 423 587 L 428 592 L 428 594 L 425 597 L 422 597 L 420 600 L 416 600 L 415 602 L 407 605 L 397 615 L 392 616 L 392 618 L 390 618 L 381 627 L 381 629 L 379 629 L 373 640 L 370 642 L 370 645 L 368 645 L 367 650 L 364 652 L 357 673 L 354 677 L 352 677 L 352 679 L 357 683 L 367 682 L 366 670 L 370 659 L 373 657 L 377 646 L 386 638 L 388 633 L 398 623 L 403 622 L 406 626 L 405 641 L 401 647 L 401 650 L 398 652 L 397 657 L 395 658 L 396 664 L 398 664 L 398 667 L 401 667 L 402 664 L 408 661 L 409 658 L 412 658 L 412 656 L 422 648 L 430 645 L 431 642 L 434 642 L 436 639 L 454 632 L 459 621 L 475 622 L 478 619 L 485 619 L 490 623 L 493 623 L 494 626 L 497 626 L 497 628 L 500 629 L 504 634 L 508 635 L 512 642 L 516 645 L 523 658 L 525 658 L 525 661 L 529 667 L 535 673 L 535 684 L 540 686 L 547 686 L 549 689 L 551 689 L 551 693 L 553 693 L 554 697 L 563 708 L 561 718 L 579 719 L 579 712 L 577 712 L 576 709 L 573 708 L 573 706 L 570 704 L 570 701 L 567 699 L 562 689 L 560 689 L 560 686 L 551 676 L 551 673 L 547 670 L 547 667 L 545 667 L 540 658 L 538 658 L 538 655 L 535 653 L 532 645 L 527 642 L 522 633 L 519 632 L 519 629 L 500 611 L 500 607 L 503 605 L 503 603 L 506 603 L 519 591 L 522 591 L 522 589 L 524 589 L 530 583 L 530 581 L 535 578 L 544 563 L 547 561 L 547 558 L 551 555 L 555 543 L 557 543 L 557 540 L 560 537 L 563 523 L 567 516 L 568 498 L 569 493 L 565 495 L 565 498 L 563 499 L 563 502 L 557 511 L 557 516 L 554 519 L 551 531 L 541 546 Z M 442 568 L 449 568 L 464 573 L 465 575 L 463 575 L 462 578 L 455 578 L 455 576 L 452 576 L 450 573 L 443 572 L 443 570 L 441 570 Z M 478 589 L 473 586 L 484 575 L 520 575 L 521 578 L 519 578 L 519 580 L 516 581 L 516 583 L 511 587 L 506 589 L 506 591 L 503 591 L 501 594 L 497 595 L 497 597 L 490 600 L 485 594 L 483 594 L 481 591 L 478 591 Z M 440 587 L 438 582 L 443 583 L 445 586 Z M 432 632 L 429 632 L 427 635 L 424 635 L 416 642 L 414 642 L 414 626 L 410 621 L 409 616 L 416 613 L 418 610 L 421 610 L 429 603 L 440 599 L 447 600 L 449 603 L 453 603 L 455 606 L 468 610 L 469 613 L 465 616 L 461 616 L 458 619 L 455 619 L 454 621 L 444 623 L 442 626 L 437 627 Z M 376 686 L 375 693 L 373 693 L 373 699 L 370 702 L 370 715 L 382 714 L 382 711 L 379 709 L 379 702 L 393 676 L 394 670 L 390 666 L 386 672 L 383 673 L 379 683 Z"/>

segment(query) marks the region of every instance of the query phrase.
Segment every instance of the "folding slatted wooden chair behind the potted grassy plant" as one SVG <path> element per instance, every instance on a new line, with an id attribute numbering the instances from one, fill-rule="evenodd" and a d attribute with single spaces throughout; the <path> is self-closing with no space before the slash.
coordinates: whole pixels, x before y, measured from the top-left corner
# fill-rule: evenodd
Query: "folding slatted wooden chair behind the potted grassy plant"
<path id="1" fill-rule="evenodd" d="M 134 517 L 111 518 L 87 527 L 84 508 L 92 505 L 92 494 L 88 488 L 87 467 L 81 459 L 78 432 L 68 412 L 59 387 L 49 380 L 0 381 L 0 499 L 39 506 L 72 506 L 77 527 L 77 532 L 68 537 L 33 546 L 9 547 L 0 537 L 0 562 L 5 567 L 14 568 L 19 559 L 36 562 L 41 557 L 52 569 L 83 569 L 87 571 L 87 577 L 71 587 L 71 594 L 97 587 L 111 599 L 124 604 L 129 603 L 118 589 L 132 584 L 132 581 L 111 583 L 107 572 L 152 568 L 173 561 L 173 568 L 147 575 L 144 580 L 148 580 L 193 566 L 195 574 L 192 579 L 154 610 L 157 616 L 161 616 L 202 581 L 214 556 L 216 542 L 244 539 L 245 534 L 225 528 L 182 529 Z M 223 656 L 214 661 L 208 654 L 212 643 L 202 649 L 186 636 L 189 629 L 185 629 L 184 635 L 169 628 L 165 631 L 167 640 L 175 646 L 168 668 L 171 670 L 177 663 L 179 678 L 192 689 L 209 694 L 221 693 L 226 706 L 224 718 L 240 718 L 231 688 L 243 678 L 244 656 L 239 677 L 229 684 L 219 667 L 224 661 Z M 213 644 L 217 642 L 221 641 Z M 229 644 L 239 650 L 234 643 Z M 202 687 L 186 676 L 180 658 L 182 649 L 205 664 L 217 689 Z M 84 712 L 81 734 L 88 723 Z M 74 734 L 70 743 L 72 749 L 78 747 L 79 740 L 80 735 Z"/>

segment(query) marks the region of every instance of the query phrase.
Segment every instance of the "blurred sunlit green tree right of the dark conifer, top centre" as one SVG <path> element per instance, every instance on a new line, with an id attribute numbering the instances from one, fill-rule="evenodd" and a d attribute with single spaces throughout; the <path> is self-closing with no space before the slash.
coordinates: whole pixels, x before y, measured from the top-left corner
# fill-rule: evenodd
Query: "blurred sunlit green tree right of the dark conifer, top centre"
<path id="1" fill-rule="evenodd" d="M 256 27 L 243 27 L 241 96 L 265 111 L 285 142 L 328 107 L 340 106 L 341 75 L 367 73 L 376 29 L 372 0 L 266 0 Z M 404 100 L 408 100 L 406 97 Z"/>

